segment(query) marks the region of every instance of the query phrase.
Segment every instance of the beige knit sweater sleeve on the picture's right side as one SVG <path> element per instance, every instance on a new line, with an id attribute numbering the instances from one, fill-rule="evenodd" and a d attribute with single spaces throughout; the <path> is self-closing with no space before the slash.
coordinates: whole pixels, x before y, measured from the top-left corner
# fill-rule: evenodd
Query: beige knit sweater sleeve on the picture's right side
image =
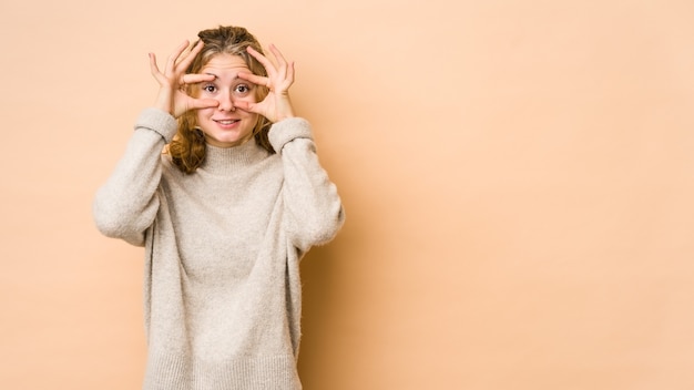
<path id="1" fill-rule="evenodd" d="M 328 243 L 345 222 L 337 187 L 320 166 L 309 123 L 299 117 L 273 125 L 269 141 L 282 156 L 285 229 L 302 252 Z"/>

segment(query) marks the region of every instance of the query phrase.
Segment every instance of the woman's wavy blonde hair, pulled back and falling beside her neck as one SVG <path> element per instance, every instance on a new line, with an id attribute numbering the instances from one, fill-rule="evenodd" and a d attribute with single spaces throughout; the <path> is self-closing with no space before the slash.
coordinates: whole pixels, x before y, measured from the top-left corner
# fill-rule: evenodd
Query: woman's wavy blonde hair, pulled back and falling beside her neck
<path id="1" fill-rule="evenodd" d="M 217 29 L 203 30 L 197 33 L 197 37 L 205 44 L 186 70 L 186 73 L 198 73 L 216 54 L 233 54 L 241 57 L 252 73 L 263 76 L 267 75 L 265 66 L 246 51 L 246 48 L 252 47 L 259 53 L 263 53 L 261 43 L 245 28 L 221 25 Z M 266 86 L 257 85 L 255 93 L 256 101 L 259 102 L 267 96 L 268 90 Z M 258 145 L 269 153 L 275 153 L 267 137 L 271 125 L 272 123 L 266 117 L 258 115 L 258 123 L 253 129 L 253 136 Z M 197 127 L 196 112 L 188 111 L 178 117 L 178 131 L 169 144 L 166 153 L 171 155 L 173 163 L 182 172 L 190 174 L 195 172 L 205 161 L 205 137 L 200 127 Z"/>

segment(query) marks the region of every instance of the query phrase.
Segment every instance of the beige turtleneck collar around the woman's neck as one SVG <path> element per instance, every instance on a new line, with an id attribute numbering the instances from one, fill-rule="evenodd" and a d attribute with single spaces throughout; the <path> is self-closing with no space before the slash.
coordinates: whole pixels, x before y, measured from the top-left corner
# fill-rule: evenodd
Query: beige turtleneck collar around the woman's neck
<path id="1" fill-rule="evenodd" d="M 217 147 L 205 145 L 205 161 L 200 168 L 215 174 L 238 172 L 238 168 L 254 165 L 267 157 L 268 152 L 257 145 L 255 138 L 238 146 Z"/>

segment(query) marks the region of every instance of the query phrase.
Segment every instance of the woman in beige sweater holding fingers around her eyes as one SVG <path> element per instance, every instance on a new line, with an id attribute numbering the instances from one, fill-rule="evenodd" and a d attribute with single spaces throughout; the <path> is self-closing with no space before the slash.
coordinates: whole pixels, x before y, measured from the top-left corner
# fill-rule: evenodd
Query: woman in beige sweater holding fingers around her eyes
<path id="1" fill-rule="evenodd" d="M 145 247 L 145 389 L 300 389 L 299 259 L 344 223 L 294 64 L 244 28 L 198 33 L 94 199 L 98 228 Z M 164 151 L 164 153 L 162 153 Z"/>

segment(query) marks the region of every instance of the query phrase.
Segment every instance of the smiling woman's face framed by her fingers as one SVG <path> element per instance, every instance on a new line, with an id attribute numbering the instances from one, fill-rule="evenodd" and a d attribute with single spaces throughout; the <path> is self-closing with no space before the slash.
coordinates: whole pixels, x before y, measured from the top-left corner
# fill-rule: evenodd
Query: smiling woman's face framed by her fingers
<path id="1" fill-rule="evenodd" d="M 220 105 L 197 111 L 197 125 L 205 141 L 218 147 L 238 146 L 251 140 L 258 115 L 235 106 L 236 102 L 255 102 L 256 85 L 238 78 L 239 72 L 253 73 L 239 55 L 216 54 L 201 69 L 201 74 L 212 74 L 213 81 L 200 83 L 196 95 L 214 99 Z"/>

